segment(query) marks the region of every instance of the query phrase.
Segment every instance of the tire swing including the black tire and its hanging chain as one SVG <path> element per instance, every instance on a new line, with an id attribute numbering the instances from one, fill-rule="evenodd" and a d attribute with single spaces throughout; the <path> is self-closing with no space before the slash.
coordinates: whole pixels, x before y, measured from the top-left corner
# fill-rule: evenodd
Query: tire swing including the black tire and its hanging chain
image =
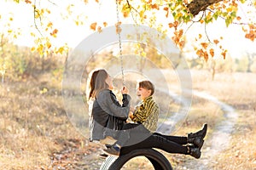
<path id="1" fill-rule="evenodd" d="M 121 61 L 121 72 L 122 72 L 122 82 L 124 81 L 124 68 L 123 68 L 123 59 L 122 59 L 122 44 L 120 37 L 120 28 L 119 28 L 119 10 L 118 10 L 118 0 L 116 0 L 116 8 L 117 8 L 117 32 L 119 35 L 119 55 Z M 145 156 L 148 161 L 150 161 L 156 170 L 172 170 L 171 163 L 167 160 L 166 156 L 161 154 L 159 151 L 154 149 L 140 149 L 140 150 L 132 150 L 130 153 L 121 155 L 119 157 L 108 156 L 105 161 L 103 161 L 100 170 L 119 170 L 121 169 L 126 162 L 130 161 L 132 158 L 137 156 Z"/>

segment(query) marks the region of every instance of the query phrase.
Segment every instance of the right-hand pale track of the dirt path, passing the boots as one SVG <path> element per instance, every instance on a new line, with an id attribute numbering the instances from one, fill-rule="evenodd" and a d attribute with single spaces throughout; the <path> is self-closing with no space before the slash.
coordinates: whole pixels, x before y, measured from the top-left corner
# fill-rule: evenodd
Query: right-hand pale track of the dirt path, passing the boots
<path id="1" fill-rule="evenodd" d="M 184 165 L 186 169 L 212 169 L 215 162 L 214 157 L 224 151 L 230 143 L 231 134 L 234 130 L 235 123 L 238 118 L 236 110 L 227 104 L 219 101 L 217 98 L 204 92 L 193 91 L 193 94 L 202 99 L 207 99 L 218 105 L 224 111 L 222 122 L 219 122 L 212 133 L 212 135 L 205 141 L 207 147 L 202 148 L 201 159 L 190 161 L 188 165 Z"/>

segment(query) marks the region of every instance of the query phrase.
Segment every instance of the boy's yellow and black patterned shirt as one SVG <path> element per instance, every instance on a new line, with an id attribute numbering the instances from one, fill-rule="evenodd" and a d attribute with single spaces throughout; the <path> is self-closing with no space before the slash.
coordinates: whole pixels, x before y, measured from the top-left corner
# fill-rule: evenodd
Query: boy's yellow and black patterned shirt
<path id="1" fill-rule="evenodd" d="M 157 128 L 159 106 L 154 102 L 153 96 L 149 96 L 136 107 L 132 121 L 141 122 L 150 132 L 154 133 Z"/>

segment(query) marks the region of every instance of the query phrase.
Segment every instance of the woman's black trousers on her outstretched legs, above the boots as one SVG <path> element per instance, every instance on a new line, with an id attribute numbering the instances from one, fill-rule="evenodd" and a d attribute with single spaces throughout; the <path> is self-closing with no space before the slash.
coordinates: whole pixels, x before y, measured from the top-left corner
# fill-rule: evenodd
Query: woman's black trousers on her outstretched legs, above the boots
<path id="1" fill-rule="evenodd" d="M 187 144 L 187 137 L 149 133 L 145 127 L 139 127 L 139 130 L 130 131 L 130 138 L 121 147 L 120 155 L 127 154 L 132 150 L 150 148 L 165 150 L 168 153 L 189 154 L 187 146 L 183 145 Z"/>

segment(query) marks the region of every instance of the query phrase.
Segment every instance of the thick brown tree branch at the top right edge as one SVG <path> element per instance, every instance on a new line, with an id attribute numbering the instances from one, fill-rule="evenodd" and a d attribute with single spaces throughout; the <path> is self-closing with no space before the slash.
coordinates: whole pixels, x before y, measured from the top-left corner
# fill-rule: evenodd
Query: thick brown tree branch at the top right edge
<path id="1" fill-rule="evenodd" d="M 193 0 L 188 4 L 187 8 L 189 8 L 189 12 L 195 16 L 199 12 L 206 10 L 208 6 L 220 1 L 223 0 Z"/>

